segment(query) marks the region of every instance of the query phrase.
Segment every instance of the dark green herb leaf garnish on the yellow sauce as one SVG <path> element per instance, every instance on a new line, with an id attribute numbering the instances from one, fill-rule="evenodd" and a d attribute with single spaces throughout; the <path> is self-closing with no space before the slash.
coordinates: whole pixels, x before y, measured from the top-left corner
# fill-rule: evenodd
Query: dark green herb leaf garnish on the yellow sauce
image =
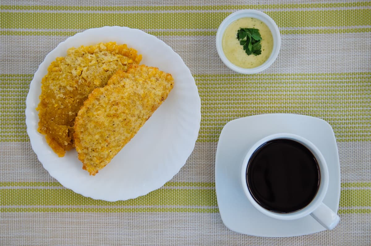
<path id="1" fill-rule="evenodd" d="M 237 39 L 240 41 L 240 45 L 243 46 L 243 50 L 247 55 L 260 55 L 262 54 L 262 45 L 260 41 L 259 30 L 255 28 L 240 28 L 237 31 Z"/>

